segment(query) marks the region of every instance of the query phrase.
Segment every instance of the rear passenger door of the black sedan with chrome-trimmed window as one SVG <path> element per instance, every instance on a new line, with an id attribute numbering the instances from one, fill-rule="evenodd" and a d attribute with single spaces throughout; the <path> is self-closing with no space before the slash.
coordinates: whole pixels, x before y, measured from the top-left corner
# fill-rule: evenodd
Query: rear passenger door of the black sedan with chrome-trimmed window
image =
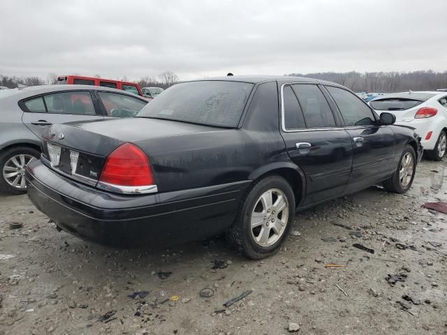
<path id="1" fill-rule="evenodd" d="M 352 164 L 351 137 L 316 84 L 281 87 L 281 134 L 306 178 L 302 205 L 344 192 Z"/>

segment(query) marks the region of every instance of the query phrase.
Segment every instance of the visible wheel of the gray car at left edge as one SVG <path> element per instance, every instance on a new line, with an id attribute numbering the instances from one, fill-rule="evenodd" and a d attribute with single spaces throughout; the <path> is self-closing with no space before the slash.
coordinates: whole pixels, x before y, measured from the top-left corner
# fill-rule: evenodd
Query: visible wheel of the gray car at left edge
<path id="1" fill-rule="evenodd" d="M 40 155 L 38 150 L 22 146 L 1 151 L 0 191 L 15 195 L 27 193 L 26 186 L 24 188 L 22 187 L 24 183 L 24 168 L 26 168 L 29 161 L 38 159 Z M 17 183 L 16 186 L 13 186 L 16 181 L 15 179 L 17 179 Z"/>

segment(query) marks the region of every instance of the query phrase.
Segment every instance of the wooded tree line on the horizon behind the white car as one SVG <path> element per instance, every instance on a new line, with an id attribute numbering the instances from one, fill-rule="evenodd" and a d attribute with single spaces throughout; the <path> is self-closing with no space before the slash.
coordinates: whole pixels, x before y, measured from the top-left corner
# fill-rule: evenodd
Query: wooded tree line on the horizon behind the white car
<path id="1" fill-rule="evenodd" d="M 342 84 L 355 92 L 393 93 L 402 91 L 432 91 L 447 89 L 447 71 L 421 70 L 413 72 L 320 72 L 291 73 L 293 77 L 309 77 Z"/>

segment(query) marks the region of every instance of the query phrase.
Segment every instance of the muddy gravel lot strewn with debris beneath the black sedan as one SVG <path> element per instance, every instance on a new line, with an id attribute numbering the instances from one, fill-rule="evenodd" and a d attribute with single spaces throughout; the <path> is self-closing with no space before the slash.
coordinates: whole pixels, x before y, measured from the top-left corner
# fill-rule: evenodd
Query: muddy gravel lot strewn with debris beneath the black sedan
<path id="1" fill-rule="evenodd" d="M 423 161 L 407 195 L 373 187 L 300 213 L 301 235 L 263 261 L 221 238 L 97 246 L 57 232 L 26 195 L 0 195 L 0 334 L 288 334 L 290 322 L 299 334 L 447 334 L 447 216 L 420 207 L 447 200 L 445 167 Z M 135 291 L 149 294 L 129 298 Z"/>

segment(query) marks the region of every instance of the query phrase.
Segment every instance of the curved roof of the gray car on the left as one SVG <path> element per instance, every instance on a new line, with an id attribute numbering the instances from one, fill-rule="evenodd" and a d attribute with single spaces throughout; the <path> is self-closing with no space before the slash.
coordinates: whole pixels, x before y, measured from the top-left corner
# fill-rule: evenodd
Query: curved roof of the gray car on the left
<path id="1" fill-rule="evenodd" d="M 23 98 L 28 98 L 29 96 L 37 96 L 38 94 L 45 94 L 59 91 L 78 91 L 85 89 L 96 90 L 96 91 L 112 91 L 121 94 L 126 93 L 141 98 L 136 94 L 132 94 L 129 91 L 123 91 L 122 89 L 112 89 L 109 87 L 93 86 L 93 85 L 69 85 L 69 84 L 38 85 L 38 86 L 24 87 L 23 89 L 17 89 L 17 91 L 15 91 L 15 94 L 5 96 L 5 98 L 15 98 L 15 100 L 18 101 Z"/>

